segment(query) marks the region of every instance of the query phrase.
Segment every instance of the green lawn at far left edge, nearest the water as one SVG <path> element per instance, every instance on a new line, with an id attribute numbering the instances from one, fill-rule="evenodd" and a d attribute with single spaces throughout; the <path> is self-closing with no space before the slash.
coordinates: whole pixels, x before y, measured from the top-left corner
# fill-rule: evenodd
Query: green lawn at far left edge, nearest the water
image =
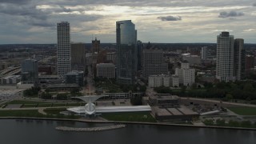
<path id="1" fill-rule="evenodd" d="M 0 117 L 43 117 L 38 110 L 0 110 Z"/>

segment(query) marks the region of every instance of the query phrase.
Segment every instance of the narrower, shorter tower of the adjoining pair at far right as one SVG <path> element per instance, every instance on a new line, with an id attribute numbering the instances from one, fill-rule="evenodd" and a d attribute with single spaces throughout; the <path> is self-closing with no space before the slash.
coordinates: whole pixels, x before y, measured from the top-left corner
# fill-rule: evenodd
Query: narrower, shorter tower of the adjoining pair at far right
<path id="1" fill-rule="evenodd" d="M 240 81 L 246 77 L 246 50 L 242 38 L 234 39 L 234 76 Z"/>

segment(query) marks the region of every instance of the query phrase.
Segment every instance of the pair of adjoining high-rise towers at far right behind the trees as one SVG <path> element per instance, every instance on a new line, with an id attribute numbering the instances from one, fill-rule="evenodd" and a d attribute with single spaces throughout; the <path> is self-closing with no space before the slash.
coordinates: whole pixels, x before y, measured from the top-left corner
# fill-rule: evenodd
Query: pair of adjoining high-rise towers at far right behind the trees
<path id="1" fill-rule="evenodd" d="M 229 32 L 217 36 L 216 78 L 229 82 L 245 77 L 246 50 L 244 40 L 234 39 Z"/>

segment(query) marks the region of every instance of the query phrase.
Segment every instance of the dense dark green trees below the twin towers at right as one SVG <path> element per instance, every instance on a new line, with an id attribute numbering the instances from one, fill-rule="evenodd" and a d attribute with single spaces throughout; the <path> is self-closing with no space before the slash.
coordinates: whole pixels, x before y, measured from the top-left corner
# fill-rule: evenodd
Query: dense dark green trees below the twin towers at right
<path id="1" fill-rule="evenodd" d="M 256 82 L 218 82 L 216 84 L 206 82 L 204 88 L 192 88 L 190 90 L 176 90 L 172 94 L 182 97 L 197 98 L 222 98 L 241 99 L 256 102 Z"/>

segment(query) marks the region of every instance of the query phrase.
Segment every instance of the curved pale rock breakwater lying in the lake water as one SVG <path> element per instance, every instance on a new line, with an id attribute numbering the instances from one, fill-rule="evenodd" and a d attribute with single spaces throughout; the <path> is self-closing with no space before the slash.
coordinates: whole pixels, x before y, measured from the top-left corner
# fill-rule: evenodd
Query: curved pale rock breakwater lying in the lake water
<path id="1" fill-rule="evenodd" d="M 102 127 L 86 127 L 86 128 L 78 128 L 78 127 L 67 127 L 67 126 L 58 126 L 55 129 L 56 130 L 62 130 L 62 131 L 78 131 L 78 132 L 84 132 L 84 131 L 103 131 L 103 130 L 114 130 L 114 129 L 120 129 L 124 128 L 126 125 L 113 125 L 113 126 L 102 126 Z"/>

